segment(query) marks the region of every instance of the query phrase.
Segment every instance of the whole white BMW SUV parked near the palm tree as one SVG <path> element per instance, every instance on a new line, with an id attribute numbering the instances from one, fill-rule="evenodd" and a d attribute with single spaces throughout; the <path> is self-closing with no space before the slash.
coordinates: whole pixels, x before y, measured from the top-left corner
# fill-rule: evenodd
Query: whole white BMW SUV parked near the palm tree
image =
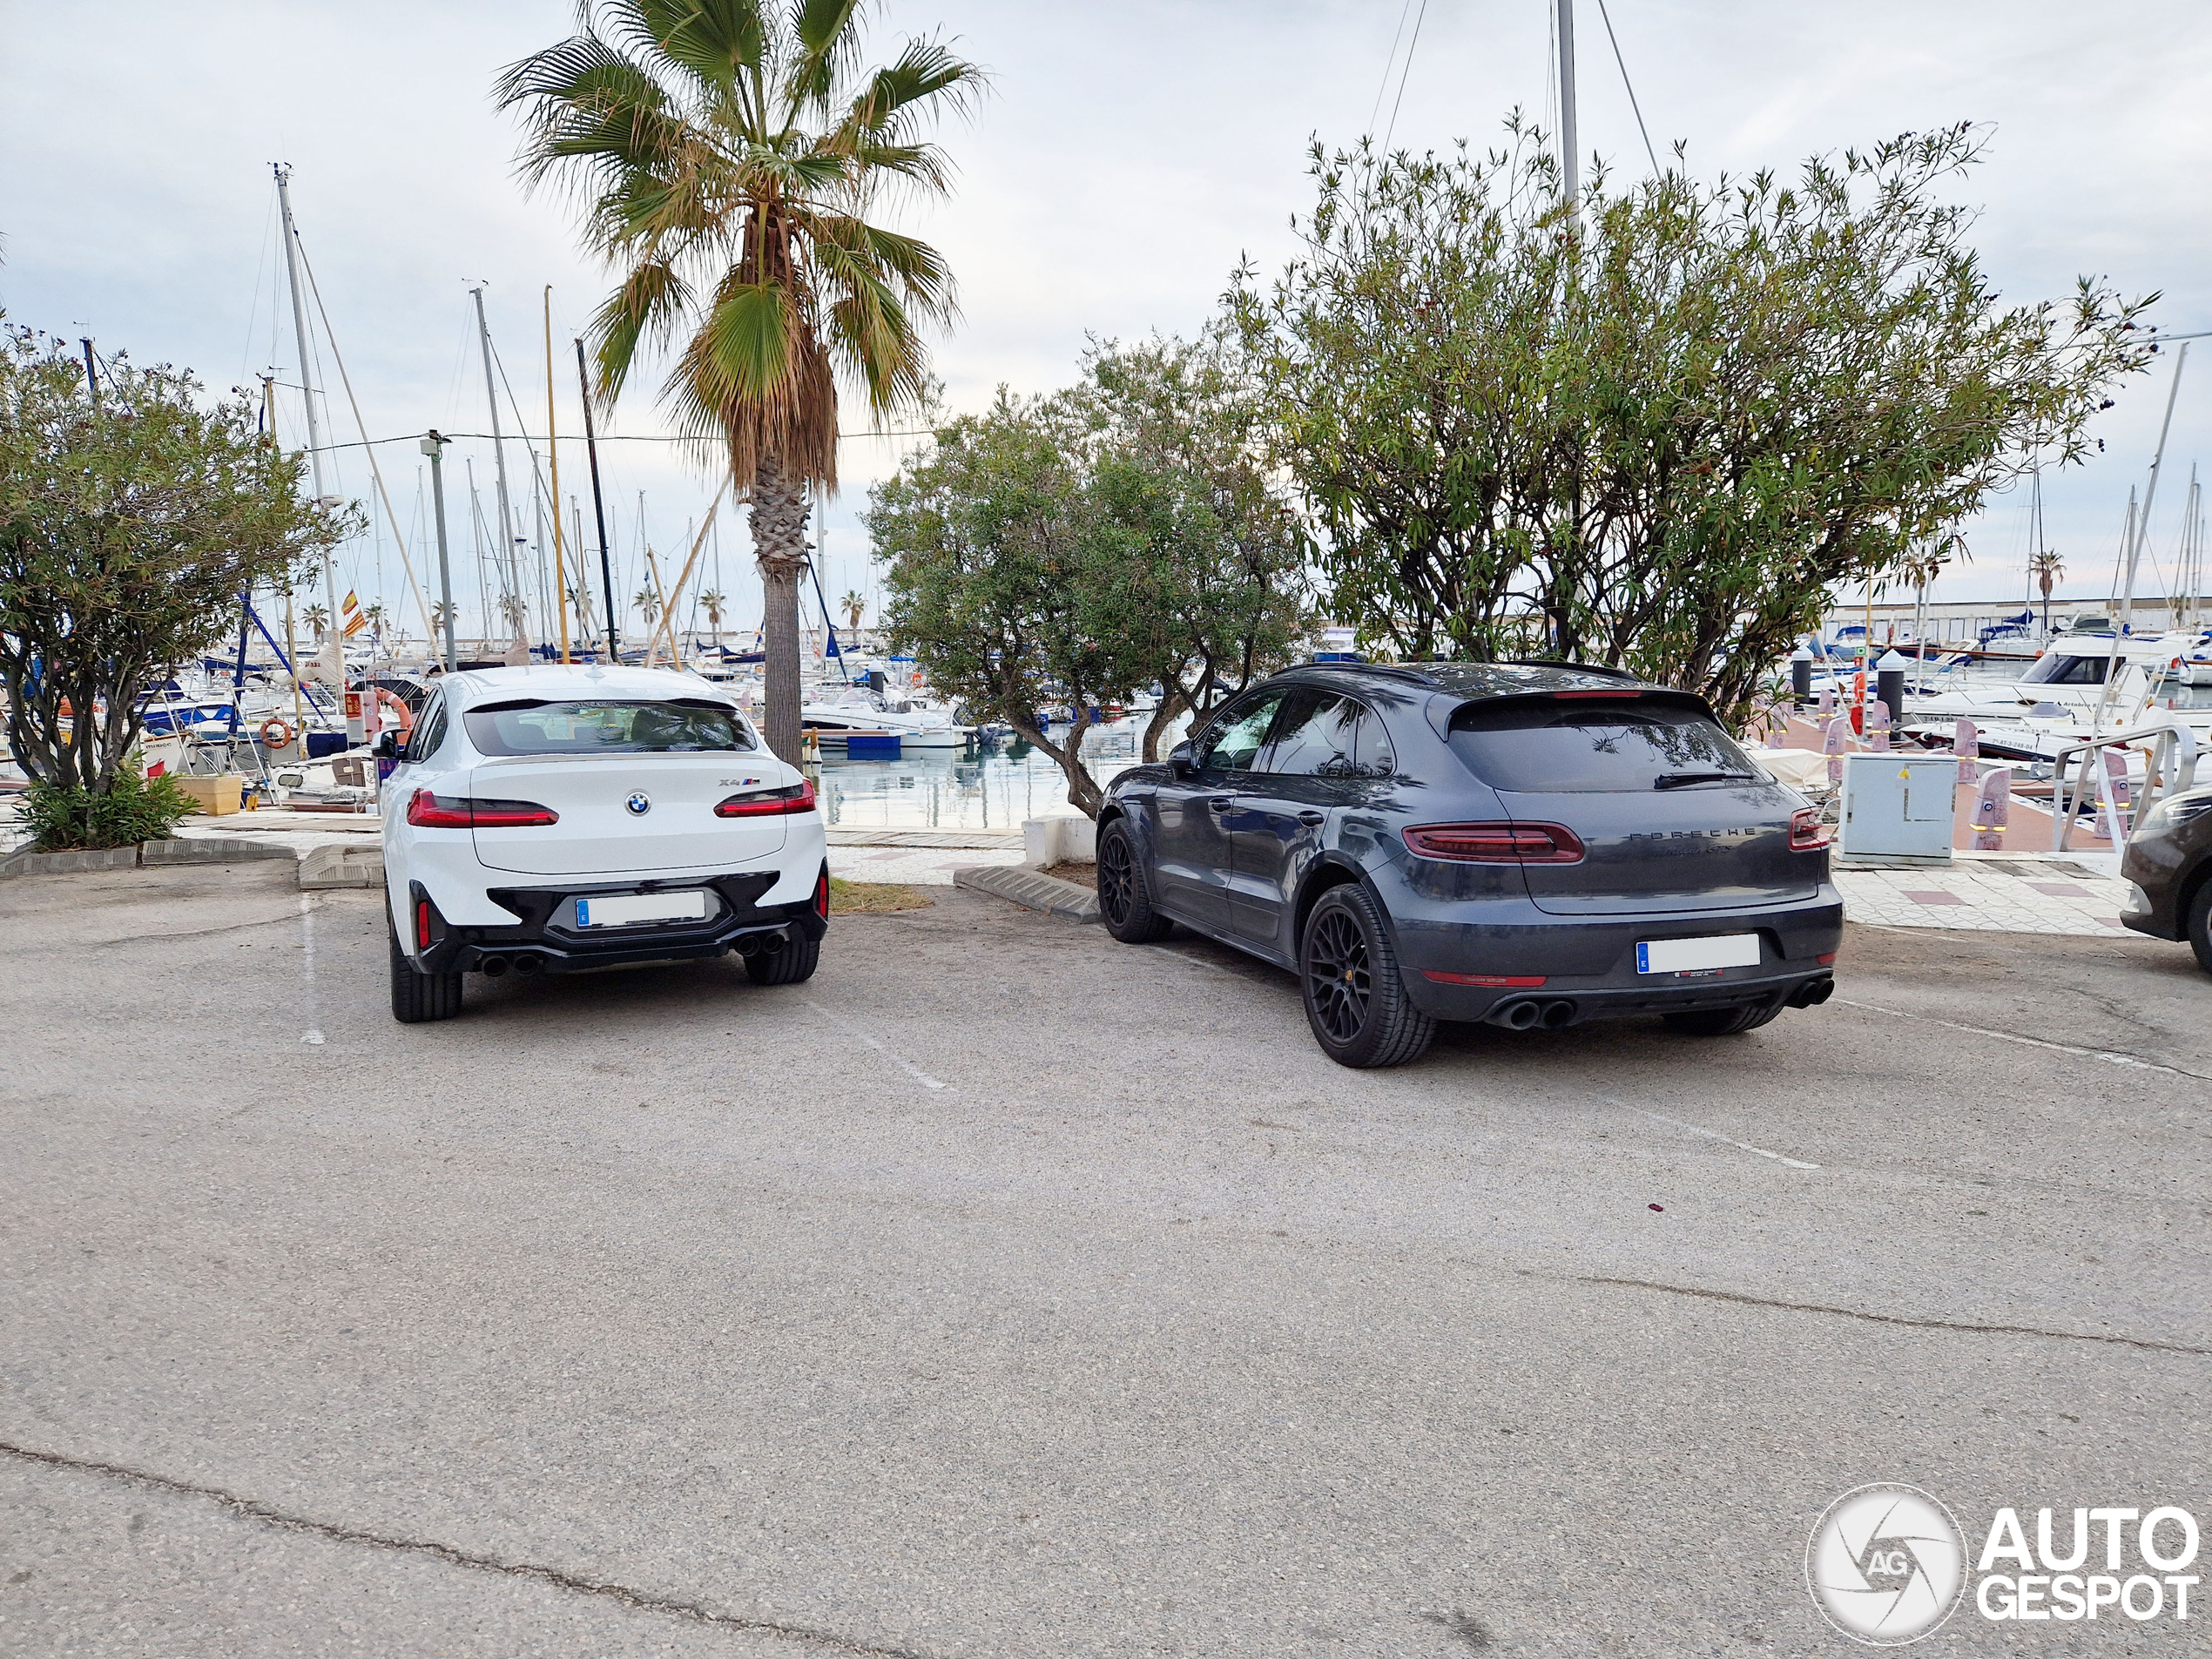
<path id="1" fill-rule="evenodd" d="M 383 785 L 392 1015 L 460 1013 L 465 973 L 739 951 L 814 973 L 830 863 L 814 785 L 730 695 L 648 668 L 484 668 L 436 684 Z"/>

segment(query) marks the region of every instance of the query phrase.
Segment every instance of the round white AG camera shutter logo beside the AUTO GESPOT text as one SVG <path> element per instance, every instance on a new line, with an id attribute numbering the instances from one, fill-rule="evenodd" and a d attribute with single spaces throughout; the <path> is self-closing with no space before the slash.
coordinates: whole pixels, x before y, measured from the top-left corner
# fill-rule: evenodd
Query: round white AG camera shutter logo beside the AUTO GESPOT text
<path id="1" fill-rule="evenodd" d="M 1812 1528 L 1805 1584 L 1843 1635 L 1902 1648 L 1951 1617 L 1966 1588 L 1966 1537 L 1918 1486 L 1847 1491 Z"/>

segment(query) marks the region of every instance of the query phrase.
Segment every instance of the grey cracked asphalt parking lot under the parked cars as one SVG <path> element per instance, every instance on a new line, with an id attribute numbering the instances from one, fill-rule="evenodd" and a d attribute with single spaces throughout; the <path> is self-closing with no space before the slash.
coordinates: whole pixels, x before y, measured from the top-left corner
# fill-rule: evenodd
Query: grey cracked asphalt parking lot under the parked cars
<path id="1" fill-rule="evenodd" d="M 967 891 L 416 1029 L 281 865 L 0 927 L 11 1655 L 1836 1655 L 1863 1482 L 2212 1509 L 2183 947 L 1851 929 L 1745 1037 L 1347 1073 Z"/>

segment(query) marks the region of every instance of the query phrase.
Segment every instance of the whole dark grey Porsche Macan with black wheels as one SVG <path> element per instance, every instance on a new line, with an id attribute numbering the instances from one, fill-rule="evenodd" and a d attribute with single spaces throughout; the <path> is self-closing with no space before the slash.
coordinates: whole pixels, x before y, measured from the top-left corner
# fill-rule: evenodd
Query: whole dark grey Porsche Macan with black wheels
<path id="1" fill-rule="evenodd" d="M 1723 1035 L 1834 991 L 1827 834 L 1703 699 L 1573 664 L 1314 664 L 1099 810 L 1099 909 L 1287 967 L 1323 1051 L 1438 1020 Z"/>

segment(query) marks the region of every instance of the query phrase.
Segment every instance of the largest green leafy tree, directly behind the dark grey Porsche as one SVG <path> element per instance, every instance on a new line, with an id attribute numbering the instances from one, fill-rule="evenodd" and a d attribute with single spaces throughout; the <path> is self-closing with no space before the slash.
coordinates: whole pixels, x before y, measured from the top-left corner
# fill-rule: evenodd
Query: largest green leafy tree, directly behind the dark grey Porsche
<path id="1" fill-rule="evenodd" d="M 1551 653 L 1741 717 L 1836 584 L 1905 580 L 2148 361 L 2084 279 L 2000 305 L 1940 188 L 1966 126 L 1568 221 L 1542 135 L 1314 153 L 1301 257 L 1232 314 L 1336 615 L 1409 657 Z"/>

